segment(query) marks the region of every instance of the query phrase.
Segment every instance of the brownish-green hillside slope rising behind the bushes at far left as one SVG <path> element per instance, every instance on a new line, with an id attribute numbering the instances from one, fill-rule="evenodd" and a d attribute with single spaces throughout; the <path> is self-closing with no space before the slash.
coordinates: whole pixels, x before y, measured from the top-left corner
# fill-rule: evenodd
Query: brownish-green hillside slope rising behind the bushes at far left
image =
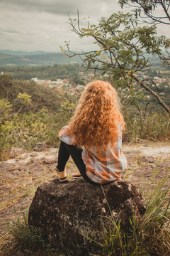
<path id="1" fill-rule="evenodd" d="M 26 80 L 13 80 L 8 75 L 0 75 L 0 85 L 0 100 L 8 99 L 16 112 L 21 107 L 21 103 L 18 103 L 17 100 L 19 93 L 26 93 L 31 96 L 31 104 L 27 106 L 27 111 L 37 112 L 45 108 L 49 113 L 55 113 L 60 109 L 62 98 L 60 99 L 57 96 L 57 91 L 52 90 L 50 87 Z M 27 107 L 23 105 L 23 112 Z"/>

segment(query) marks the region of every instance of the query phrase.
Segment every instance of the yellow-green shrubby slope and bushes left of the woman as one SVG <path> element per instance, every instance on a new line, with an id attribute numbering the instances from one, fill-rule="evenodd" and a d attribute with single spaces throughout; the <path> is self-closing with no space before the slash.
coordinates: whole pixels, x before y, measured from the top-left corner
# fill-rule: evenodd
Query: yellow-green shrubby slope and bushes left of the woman
<path id="1" fill-rule="evenodd" d="M 60 129 L 69 121 L 76 98 L 35 82 L 0 77 L 0 160 L 11 147 L 32 149 L 36 142 L 58 146 Z"/>

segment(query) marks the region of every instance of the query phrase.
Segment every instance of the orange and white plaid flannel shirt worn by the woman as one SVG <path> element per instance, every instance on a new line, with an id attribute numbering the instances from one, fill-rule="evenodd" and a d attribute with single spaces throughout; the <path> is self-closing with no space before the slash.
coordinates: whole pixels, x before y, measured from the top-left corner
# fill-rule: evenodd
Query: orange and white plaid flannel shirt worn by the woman
<path id="1" fill-rule="evenodd" d="M 69 137 L 66 132 L 67 127 L 63 127 L 59 133 L 62 142 L 72 145 L 76 140 Z M 127 169 L 127 159 L 122 153 L 122 127 L 119 125 L 118 139 L 106 151 L 98 152 L 96 146 L 90 150 L 83 148 L 81 157 L 86 165 L 86 175 L 96 183 L 108 183 L 110 181 L 121 180 L 123 171 Z"/>

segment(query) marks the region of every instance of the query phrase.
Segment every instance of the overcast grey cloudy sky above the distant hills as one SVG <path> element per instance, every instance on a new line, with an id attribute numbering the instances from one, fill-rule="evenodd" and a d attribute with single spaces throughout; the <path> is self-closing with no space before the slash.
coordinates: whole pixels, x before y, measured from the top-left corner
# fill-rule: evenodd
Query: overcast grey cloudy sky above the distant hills
<path id="1" fill-rule="evenodd" d="M 70 31 L 67 14 L 77 18 L 77 9 L 81 27 L 86 26 L 84 18 L 98 23 L 101 16 L 121 10 L 118 0 L 0 0 L 0 49 L 58 52 L 64 41 L 71 41 L 74 50 L 92 50 L 90 38 L 80 39 Z M 158 33 L 166 34 L 167 28 Z"/>

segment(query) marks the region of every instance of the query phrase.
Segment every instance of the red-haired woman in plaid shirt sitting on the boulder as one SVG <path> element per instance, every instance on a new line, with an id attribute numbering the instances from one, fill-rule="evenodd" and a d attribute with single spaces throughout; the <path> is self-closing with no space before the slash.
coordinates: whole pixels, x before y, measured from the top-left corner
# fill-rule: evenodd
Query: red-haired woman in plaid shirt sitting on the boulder
<path id="1" fill-rule="evenodd" d="M 61 144 L 55 166 L 58 180 L 67 181 L 65 165 L 70 155 L 79 169 L 73 178 L 82 176 L 94 186 L 120 180 L 127 168 L 121 152 L 124 127 L 115 89 L 101 80 L 90 82 L 74 117 L 59 133 Z"/>

